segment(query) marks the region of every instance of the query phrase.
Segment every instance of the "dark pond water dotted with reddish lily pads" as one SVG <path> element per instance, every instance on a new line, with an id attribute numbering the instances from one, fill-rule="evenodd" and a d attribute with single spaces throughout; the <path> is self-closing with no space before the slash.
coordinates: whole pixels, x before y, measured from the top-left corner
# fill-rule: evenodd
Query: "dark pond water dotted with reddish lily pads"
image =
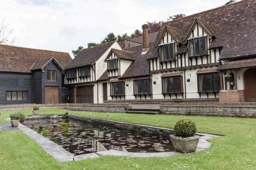
<path id="1" fill-rule="evenodd" d="M 59 123 L 27 124 L 39 131 L 46 128 L 48 138 L 74 155 L 106 151 L 110 149 L 124 152 L 171 152 L 174 151 L 170 139 L 149 136 L 131 131 L 69 120 L 71 128 L 60 128 Z M 39 128 L 40 126 L 40 128 Z M 39 132 L 38 132 L 39 133 Z"/>

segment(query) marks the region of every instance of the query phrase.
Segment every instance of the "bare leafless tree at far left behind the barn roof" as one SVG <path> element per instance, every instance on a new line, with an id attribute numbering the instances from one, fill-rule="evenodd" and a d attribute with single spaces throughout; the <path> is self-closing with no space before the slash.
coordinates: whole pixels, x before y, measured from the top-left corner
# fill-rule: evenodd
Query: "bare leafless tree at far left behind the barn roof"
<path id="1" fill-rule="evenodd" d="M 6 24 L 4 20 L 0 22 L 0 44 L 9 44 L 13 45 L 16 41 L 16 38 L 11 38 L 13 29 L 10 28 L 9 24 Z"/>

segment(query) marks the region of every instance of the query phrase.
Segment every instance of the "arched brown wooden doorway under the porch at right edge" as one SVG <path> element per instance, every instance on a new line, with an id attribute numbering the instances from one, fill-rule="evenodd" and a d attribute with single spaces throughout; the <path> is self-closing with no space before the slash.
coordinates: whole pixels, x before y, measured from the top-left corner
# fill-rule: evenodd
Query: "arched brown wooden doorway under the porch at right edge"
<path id="1" fill-rule="evenodd" d="M 256 68 L 249 68 L 244 72 L 245 101 L 256 101 Z"/>

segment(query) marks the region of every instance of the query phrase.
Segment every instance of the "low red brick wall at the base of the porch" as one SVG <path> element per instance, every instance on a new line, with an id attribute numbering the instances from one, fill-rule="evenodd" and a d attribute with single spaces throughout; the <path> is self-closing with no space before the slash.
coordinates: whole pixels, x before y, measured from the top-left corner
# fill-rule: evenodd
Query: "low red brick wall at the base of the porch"
<path id="1" fill-rule="evenodd" d="M 219 92 L 219 102 L 244 102 L 244 90 L 229 90 Z"/>

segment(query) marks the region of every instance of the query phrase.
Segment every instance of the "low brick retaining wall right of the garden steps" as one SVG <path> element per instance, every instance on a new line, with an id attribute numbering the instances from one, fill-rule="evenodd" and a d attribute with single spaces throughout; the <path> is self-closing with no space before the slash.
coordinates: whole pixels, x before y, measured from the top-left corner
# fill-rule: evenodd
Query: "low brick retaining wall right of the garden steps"
<path id="1" fill-rule="evenodd" d="M 256 118 L 256 103 L 186 103 L 160 105 L 161 114 Z"/>

